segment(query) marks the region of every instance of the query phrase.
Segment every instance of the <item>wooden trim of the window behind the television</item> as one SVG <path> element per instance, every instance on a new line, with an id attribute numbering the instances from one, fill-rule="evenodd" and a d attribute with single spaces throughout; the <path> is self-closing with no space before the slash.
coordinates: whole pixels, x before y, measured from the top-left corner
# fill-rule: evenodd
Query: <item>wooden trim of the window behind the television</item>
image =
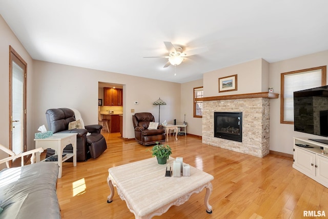
<path id="1" fill-rule="evenodd" d="M 321 86 L 326 85 L 326 65 L 320 67 L 314 67 L 309 69 L 302 69 L 292 72 L 285 72 L 280 74 L 280 123 L 282 124 L 294 124 L 294 121 L 284 121 L 284 76 L 290 74 L 296 74 L 301 72 L 310 72 L 315 70 L 321 70 Z"/>

